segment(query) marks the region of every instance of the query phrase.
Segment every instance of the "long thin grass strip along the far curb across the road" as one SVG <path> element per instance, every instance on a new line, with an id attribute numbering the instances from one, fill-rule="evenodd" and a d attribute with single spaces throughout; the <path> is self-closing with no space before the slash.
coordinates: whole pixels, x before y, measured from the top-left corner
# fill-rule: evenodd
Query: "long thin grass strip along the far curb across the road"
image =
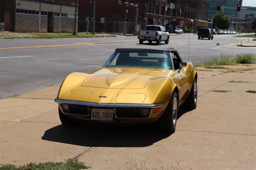
<path id="1" fill-rule="evenodd" d="M 110 37 L 109 35 L 96 35 L 80 33 L 77 36 L 73 36 L 71 33 L 29 33 L 39 38 L 91 38 L 91 37 Z M 112 36 L 111 36 L 112 37 Z"/>

